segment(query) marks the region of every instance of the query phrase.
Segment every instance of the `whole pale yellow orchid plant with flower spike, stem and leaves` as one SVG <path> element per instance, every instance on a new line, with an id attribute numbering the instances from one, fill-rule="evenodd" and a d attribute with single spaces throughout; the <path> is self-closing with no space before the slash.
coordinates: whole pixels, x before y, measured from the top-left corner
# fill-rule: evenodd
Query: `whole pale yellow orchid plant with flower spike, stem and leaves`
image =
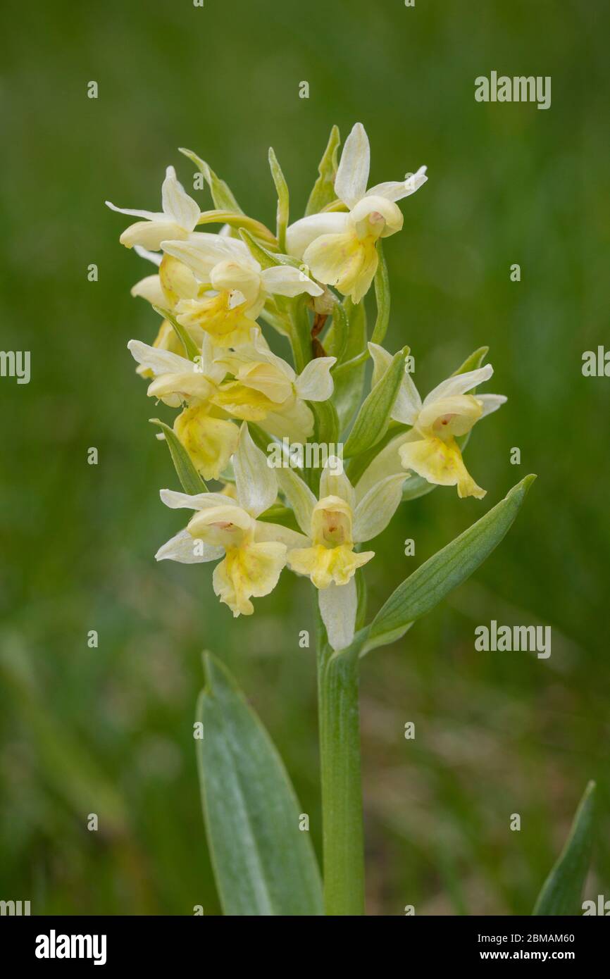
<path id="1" fill-rule="evenodd" d="M 475 424 L 505 398 L 478 392 L 493 374 L 483 364 L 487 348 L 422 401 L 409 348 L 383 347 L 390 286 L 382 242 L 401 229 L 397 202 L 424 185 L 426 167 L 367 190 L 364 127 L 353 126 L 338 163 L 339 146 L 335 126 L 305 215 L 293 223 L 288 185 L 269 151 L 274 229 L 246 214 L 189 150 L 181 152 L 208 185 L 210 210 L 172 166 L 161 211 L 109 203 L 139 218 L 119 240 L 156 269 L 132 294 L 162 317 L 159 332 L 151 345 L 127 346 L 148 395 L 177 409 L 172 425 L 153 419 L 181 485 L 161 498 L 193 513 L 157 559 L 213 563 L 211 587 L 234 617 L 255 614 L 282 574 L 308 579 L 316 598 L 323 887 L 306 815 L 275 748 L 225 667 L 206 656 L 195 736 L 212 863 L 230 914 L 363 913 L 359 659 L 399 639 L 481 564 L 534 479 L 367 617 L 371 541 L 399 507 L 438 486 L 485 495 L 462 453 Z M 295 464 L 293 443 L 335 451 L 318 452 L 311 465 L 302 453 Z"/>

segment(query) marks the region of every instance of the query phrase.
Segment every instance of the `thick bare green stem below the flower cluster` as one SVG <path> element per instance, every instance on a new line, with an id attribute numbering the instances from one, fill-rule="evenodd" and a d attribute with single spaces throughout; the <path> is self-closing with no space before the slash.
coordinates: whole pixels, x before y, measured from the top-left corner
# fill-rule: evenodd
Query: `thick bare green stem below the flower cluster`
<path id="1" fill-rule="evenodd" d="M 334 653 L 318 643 L 324 910 L 364 913 L 358 648 Z"/>

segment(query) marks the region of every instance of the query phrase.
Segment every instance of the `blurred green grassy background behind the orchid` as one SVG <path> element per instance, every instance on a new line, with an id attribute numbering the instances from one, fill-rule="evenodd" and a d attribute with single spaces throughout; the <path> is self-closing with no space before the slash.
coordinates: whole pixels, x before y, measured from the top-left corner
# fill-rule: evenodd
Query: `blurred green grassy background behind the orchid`
<path id="1" fill-rule="evenodd" d="M 509 398 L 468 448 L 486 500 L 437 489 L 406 504 L 376 541 L 371 609 L 539 474 L 475 578 L 363 663 L 367 911 L 529 913 L 590 777 L 586 896 L 610 897 L 609 382 L 581 373 L 608 337 L 607 5 L 9 0 L 4 14 L 1 346 L 30 350 L 32 376 L 0 379 L 0 898 L 218 913 L 192 738 L 204 647 L 278 744 L 319 852 L 308 586 L 285 574 L 234 622 L 209 569 L 155 564 L 180 526 L 158 493 L 176 480 L 125 349 L 156 332 L 129 296 L 150 267 L 118 245 L 125 222 L 104 200 L 156 209 L 167 163 L 190 185 L 188 146 L 269 223 L 272 145 L 299 216 L 331 124 L 345 138 L 358 119 L 372 182 L 429 167 L 387 243 L 389 348 L 411 346 L 427 391 L 489 344 L 489 390 Z M 476 103 L 491 70 L 551 75 L 550 110 Z M 550 625 L 551 658 L 475 652 L 491 619 Z"/>

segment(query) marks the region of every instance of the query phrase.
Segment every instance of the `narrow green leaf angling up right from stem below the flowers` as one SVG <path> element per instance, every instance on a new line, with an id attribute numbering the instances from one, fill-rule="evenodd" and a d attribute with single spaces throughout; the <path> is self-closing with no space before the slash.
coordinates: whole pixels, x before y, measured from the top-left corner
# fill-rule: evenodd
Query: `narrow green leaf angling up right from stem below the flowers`
<path id="1" fill-rule="evenodd" d="M 367 648 L 398 639 L 411 623 L 438 605 L 483 564 L 508 532 L 536 476 L 526 476 L 485 517 L 422 564 L 377 613 Z"/>

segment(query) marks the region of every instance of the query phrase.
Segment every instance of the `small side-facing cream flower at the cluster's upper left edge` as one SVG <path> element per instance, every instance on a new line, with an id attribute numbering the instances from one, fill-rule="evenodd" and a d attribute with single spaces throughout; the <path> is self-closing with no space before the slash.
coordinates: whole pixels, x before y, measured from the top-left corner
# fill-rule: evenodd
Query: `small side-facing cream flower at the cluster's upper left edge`
<path id="1" fill-rule="evenodd" d="M 163 210 L 117 208 L 110 201 L 106 204 L 111 210 L 117 210 L 119 214 L 144 218 L 142 221 L 130 224 L 121 234 L 119 241 L 126 248 L 141 245 L 146 249 L 157 251 L 165 238 L 188 238 L 201 215 L 197 202 L 188 196 L 182 184 L 178 182 L 173 166 L 168 166 L 165 170 L 162 187 Z"/>

